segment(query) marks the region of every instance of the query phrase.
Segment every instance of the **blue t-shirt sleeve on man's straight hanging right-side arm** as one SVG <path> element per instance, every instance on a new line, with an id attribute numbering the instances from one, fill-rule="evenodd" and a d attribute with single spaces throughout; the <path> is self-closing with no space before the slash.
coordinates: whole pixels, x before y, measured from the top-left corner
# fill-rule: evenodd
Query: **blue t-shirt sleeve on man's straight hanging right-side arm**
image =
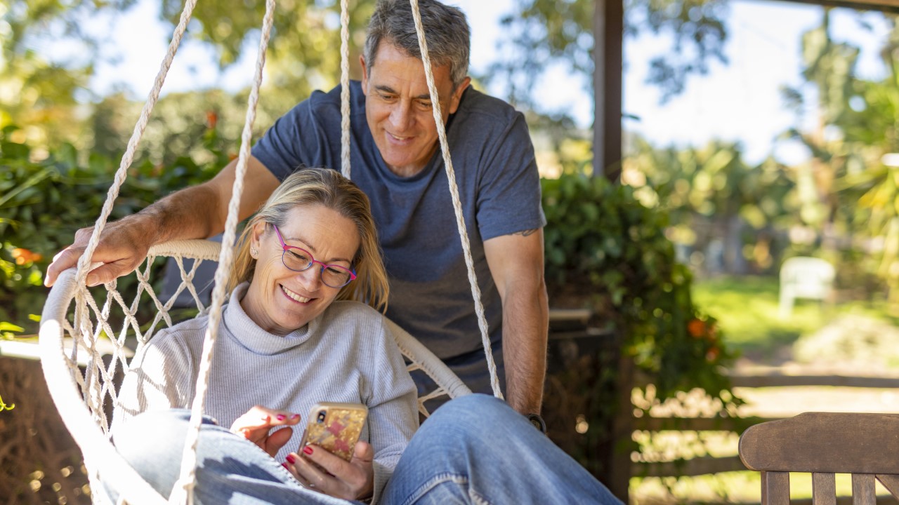
<path id="1" fill-rule="evenodd" d="M 483 240 L 543 227 L 540 176 L 528 125 L 514 112 L 494 130 L 485 150 L 477 191 L 477 226 Z"/>

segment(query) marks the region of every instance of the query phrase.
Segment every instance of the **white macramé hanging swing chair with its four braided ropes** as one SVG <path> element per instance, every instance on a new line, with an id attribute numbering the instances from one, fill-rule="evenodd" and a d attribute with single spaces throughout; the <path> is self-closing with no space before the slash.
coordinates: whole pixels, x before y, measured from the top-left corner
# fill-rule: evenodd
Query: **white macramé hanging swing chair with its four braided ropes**
<path id="1" fill-rule="evenodd" d="M 91 264 L 89 259 L 99 243 L 106 219 L 111 213 L 112 204 L 118 196 L 120 186 L 127 176 L 128 168 L 137 150 L 138 142 L 147 127 L 150 111 L 153 110 L 159 97 L 165 75 L 174 59 L 174 54 L 181 42 L 184 30 L 191 19 L 196 0 L 187 0 L 181 19 L 174 30 L 172 42 L 165 55 L 153 89 L 129 140 L 125 155 L 111 185 L 101 216 L 97 218 L 93 235 L 85 253 L 78 261 L 77 268 L 63 272 L 50 290 L 46 305 L 43 308 L 40 323 L 40 360 L 47 380 L 50 395 L 85 457 L 88 479 L 93 489 L 105 486 L 118 492 L 120 503 L 167 503 L 192 502 L 194 471 L 196 466 L 196 445 L 200 432 L 200 419 L 209 381 L 209 363 L 211 351 L 215 344 L 218 326 L 222 314 L 222 305 L 227 299 L 225 286 L 227 276 L 234 262 L 234 244 L 236 238 L 237 209 L 243 190 L 246 161 L 250 151 L 251 129 L 255 119 L 256 105 L 259 99 L 259 88 L 262 84 L 265 50 L 271 33 L 271 21 L 274 12 L 274 0 L 266 1 L 263 18 L 262 38 L 259 44 L 254 82 L 248 100 L 246 119 L 241 137 L 241 147 L 236 167 L 236 180 L 232 198 L 228 207 L 225 234 L 221 244 L 209 240 L 182 240 L 158 244 L 150 248 L 147 260 L 130 274 L 136 279 L 136 295 L 126 300 L 117 290 L 118 281 L 106 284 L 102 293 L 88 290 L 85 287 L 87 273 L 98 264 Z M 437 123 L 441 152 L 449 179 L 449 190 L 452 196 L 459 237 L 465 254 L 468 280 L 472 289 L 478 325 L 484 342 L 485 358 L 491 374 L 494 395 L 502 398 L 496 367 L 491 354 L 484 307 L 480 290 L 477 287 L 474 261 L 468 243 L 465 222 L 459 204 L 458 188 L 455 173 L 449 158 L 446 131 L 441 122 L 440 102 L 434 85 L 432 66 L 428 57 L 423 26 L 418 11 L 417 0 L 410 0 L 418 34 L 419 47 L 422 53 L 425 77 L 432 96 L 434 120 Z M 350 176 L 350 87 L 349 87 L 349 13 L 347 0 L 341 1 L 341 84 L 342 84 L 342 172 Z M 157 258 L 169 258 L 180 273 L 180 284 L 168 299 L 160 299 L 153 288 L 151 279 L 154 262 Z M 194 277 L 204 261 L 218 261 L 211 302 L 206 306 L 198 287 L 194 285 Z M 123 289 L 124 290 L 124 289 Z M 118 385 L 122 374 L 129 370 L 130 358 L 134 351 L 129 350 L 126 341 L 137 341 L 137 350 L 147 345 L 154 333 L 160 328 L 178 323 L 173 313 L 176 311 L 175 300 L 186 294 L 193 300 L 199 315 L 209 315 L 209 328 L 203 347 L 199 377 L 195 399 L 191 409 L 191 430 L 184 443 L 182 473 L 175 484 L 170 500 L 166 501 L 156 492 L 131 466 L 118 454 L 109 437 L 111 412 L 119 405 Z M 97 299 L 102 299 L 98 303 Z M 130 297 L 129 297 L 130 298 Z M 144 315 L 138 308 L 152 305 L 153 314 Z M 113 324 L 121 324 L 120 330 L 113 329 Z M 165 325 L 165 326 L 163 326 Z M 409 371 L 422 370 L 432 378 L 437 388 L 423 394 L 418 400 L 419 411 L 427 416 L 425 403 L 441 395 L 454 398 L 471 391 L 456 377 L 449 368 L 423 344 L 403 331 L 395 323 L 388 323 L 394 330 L 396 344 L 410 363 Z M 102 348 L 107 348 L 102 350 Z M 105 356 L 104 356 L 105 355 Z M 102 481 L 102 484 L 101 484 Z M 94 492 L 94 500 L 101 499 L 102 493 Z"/>

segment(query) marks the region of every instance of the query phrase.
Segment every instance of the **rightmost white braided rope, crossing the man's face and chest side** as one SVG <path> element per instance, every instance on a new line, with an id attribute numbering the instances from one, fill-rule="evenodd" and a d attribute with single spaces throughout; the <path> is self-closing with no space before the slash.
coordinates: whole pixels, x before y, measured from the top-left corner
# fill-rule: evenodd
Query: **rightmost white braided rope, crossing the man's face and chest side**
<path id="1" fill-rule="evenodd" d="M 415 18 L 415 32 L 418 34 L 418 48 L 422 52 L 424 77 L 428 82 L 428 91 L 431 93 L 434 122 L 437 124 L 437 135 L 441 141 L 443 164 L 446 166 L 447 180 L 449 181 L 449 194 L 452 196 L 453 210 L 455 210 L 456 212 L 456 225 L 458 226 L 458 235 L 462 240 L 462 251 L 463 253 L 465 253 L 465 264 L 468 268 L 468 283 L 471 284 L 471 295 L 475 300 L 477 325 L 481 329 L 481 341 L 483 341 L 484 343 L 484 353 L 487 359 L 487 368 L 489 368 L 490 370 L 490 385 L 493 387 L 494 396 L 502 399 L 503 392 L 500 390 L 500 382 L 496 376 L 496 363 L 494 362 L 493 350 L 491 350 L 490 347 L 490 335 L 487 332 L 487 319 L 484 315 L 484 304 L 481 302 L 481 288 L 477 286 L 475 261 L 471 257 L 471 244 L 468 241 L 468 232 L 465 226 L 465 217 L 462 215 L 462 203 L 458 198 L 456 172 L 453 170 L 452 160 L 449 157 L 449 143 L 447 141 L 446 127 L 443 124 L 441 102 L 438 101 L 439 96 L 437 95 L 437 86 L 434 84 L 434 74 L 431 67 L 431 58 L 428 56 L 428 42 L 424 39 L 422 14 L 418 11 L 418 0 L 409 0 L 409 2 L 410 4 L 412 4 L 412 13 Z"/>

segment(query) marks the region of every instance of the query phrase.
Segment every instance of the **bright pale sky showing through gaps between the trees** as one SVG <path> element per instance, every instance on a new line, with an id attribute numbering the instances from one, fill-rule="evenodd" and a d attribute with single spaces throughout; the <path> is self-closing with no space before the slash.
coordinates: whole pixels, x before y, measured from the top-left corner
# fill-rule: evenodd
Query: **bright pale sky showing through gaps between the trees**
<path id="1" fill-rule="evenodd" d="M 497 37 L 503 36 L 498 20 L 510 11 L 512 0 L 448 3 L 457 4 L 467 13 L 475 48 L 472 68 L 485 69 L 495 51 L 477 49 L 492 49 Z M 111 40 L 103 50 L 114 62 L 97 66 L 94 93 L 108 93 L 118 85 L 135 97 L 146 96 L 171 37 L 161 24 L 147 22 L 156 20 L 158 5 L 156 0 L 138 0 L 133 9 L 114 21 L 93 21 L 90 29 L 105 33 Z M 647 62 L 670 47 L 671 40 L 642 35 L 625 41 L 624 111 L 639 118 L 625 120 L 625 128 L 660 146 L 701 146 L 712 138 L 738 140 L 750 163 L 758 163 L 772 152 L 785 162 L 797 163 L 807 155 L 801 146 L 775 142 L 780 132 L 797 123 L 795 114 L 784 108 L 779 88 L 783 84 L 801 84 L 801 33 L 820 23 L 822 9 L 781 1 L 732 0 L 730 5 L 725 49 L 730 63 L 714 63 L 708 75 L 691 78 L 685 93 L 664 104 L 659 102 L 658 89 L 645 84 L 645 79 Z M 887 27 L 877 14 L 865 14 L 863 19 L 872 24 L 873 32 L 860 29 L 859 14 L 838 9 L 832 18 L 832 31 L 836 38 L 862 47 L 859 73 L 876 78 L 883 72 L 877 51 L 886 38 Z M 66 51 L 72 50 L 50 46 L 43 49 L 54 53 L 55 58 L 67 58 Z M 211 86 L 243 87 L 252 75 L 255 49 L 249 48 L 245 55 L 219 74 L 211 49 L 185 42 L 166 79 L 164 93 Z M 584 128 L 592 123 L 592 101 L 583 92 L 583 81 L 564 69 L 548 68 L 539 76 L 537 89 L 547 110 L 568 111 Z M 501 94 L 501 90 L 487 91 Z M 814 107 L 809 109 L 801 120 L 805 124 L 814 122 Z"/>

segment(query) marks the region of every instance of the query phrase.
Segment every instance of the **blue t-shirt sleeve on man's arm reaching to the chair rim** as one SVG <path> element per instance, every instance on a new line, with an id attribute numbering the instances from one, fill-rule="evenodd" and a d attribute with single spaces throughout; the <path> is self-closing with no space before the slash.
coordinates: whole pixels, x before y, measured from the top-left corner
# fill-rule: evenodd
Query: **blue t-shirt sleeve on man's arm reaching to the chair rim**
<path id="1" fill-rule="evenodd" d="M 314 94 L 299 102 L 276 120 L 253 146 L 254 157 L 279 181 L 298 168 L 324 165 L 326 137 L 316 124 L 315 100 Z"/>

